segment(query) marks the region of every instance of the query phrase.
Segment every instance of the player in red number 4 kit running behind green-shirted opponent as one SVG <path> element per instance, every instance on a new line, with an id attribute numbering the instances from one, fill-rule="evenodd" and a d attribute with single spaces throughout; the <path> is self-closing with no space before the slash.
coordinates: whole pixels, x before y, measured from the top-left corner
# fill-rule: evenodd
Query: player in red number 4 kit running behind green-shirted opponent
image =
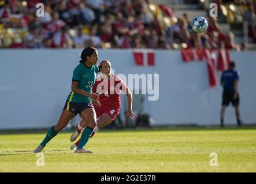
<path id="1" fill-rule="evenodd" d="M 108 60 L 103 60 L 99 66 L 103 75 L 99 76 L 95 82 L 92 92 L 98 93 L 98 101 L 94 103 L 94 109 L 97 114 L 97 125 L 94 127 L 91 137 L 101 128 L 110 124 L 119 114 L 121 107 L 120 92 L 127 95 L 128 110 L 126 116 L 133 119 L 136 115 L 132 112 L 132 93 L 124 81 L 117 75 L 111 74 L 111 64 Z M 77 124 L 76 132 L 71 135 L 71 141 L 75 141 L 81 131 L 87 127 L 87 122 L 81 120 Z M 75 149 L 79 145 L 78 140 L 71 146 Z"/>

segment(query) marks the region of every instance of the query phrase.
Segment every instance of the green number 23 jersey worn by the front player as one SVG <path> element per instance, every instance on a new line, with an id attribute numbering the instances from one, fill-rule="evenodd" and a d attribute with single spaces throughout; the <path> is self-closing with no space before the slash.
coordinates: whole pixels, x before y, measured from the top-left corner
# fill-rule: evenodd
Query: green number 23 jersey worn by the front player
<path id="1" fill-rule="evenodd" d="M 79 89 L 86 91 L 88 93 L 92 93 L 92 86 L 96 81 L 97 72 L 99 72 L 99 67 L 97 65 L 93 65 L 91 68 L 89 68 L 86 66 L 86 64 L 80 63 L 73 71 L 72 81 L 79 82 Z M 68 102 L 86 104 L 91 102 L 91 98 L 74 93 L 73 91 L 69 93 L 68 98 L 66 100 Z"/>

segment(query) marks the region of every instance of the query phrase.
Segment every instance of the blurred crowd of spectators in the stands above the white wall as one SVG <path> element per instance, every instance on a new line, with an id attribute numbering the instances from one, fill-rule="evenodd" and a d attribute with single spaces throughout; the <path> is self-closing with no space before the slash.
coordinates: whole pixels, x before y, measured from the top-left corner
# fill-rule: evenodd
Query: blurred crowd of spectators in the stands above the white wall
<path id="1" fill-rule="evenodd" d="M 43 17 L 36 16 L 38 3 Z M 235 3 L 244 5 L 256 42 L 256 0 Z M 0 0 L 0 48 L 247 48 L 222 33 L 216 17 L 206 17 L 205 33 L 192 31 L 191 18 L 150 0 Z"/>

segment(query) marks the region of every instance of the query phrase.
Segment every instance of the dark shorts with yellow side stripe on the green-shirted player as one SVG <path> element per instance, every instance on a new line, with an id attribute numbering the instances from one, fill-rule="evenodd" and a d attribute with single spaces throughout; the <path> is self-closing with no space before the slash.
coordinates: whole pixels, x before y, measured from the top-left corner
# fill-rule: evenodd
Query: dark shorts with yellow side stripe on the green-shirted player
<path id="1" fill-rule="evenodd" d="M 77 113 L 81 114 L 81 112 L 83 112 L 84 110 L 86 110 L 88 108 L 94 108 L 94 106 L 92 105 L 91 102 L 90 103 L 76 103 L 76 102 L 66 101 L 63 110 L 68 110 L 69 112 L 72 112 L 75 114 L 77 114 Z"/>

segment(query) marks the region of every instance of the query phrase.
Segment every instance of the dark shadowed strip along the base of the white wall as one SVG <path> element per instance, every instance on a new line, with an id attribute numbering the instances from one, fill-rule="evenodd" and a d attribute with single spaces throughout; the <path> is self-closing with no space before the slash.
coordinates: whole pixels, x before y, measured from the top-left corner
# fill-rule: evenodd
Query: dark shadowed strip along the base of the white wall
<path id="1" fill-rule="evenodd" d="M 177 126 L 158 126 L 158 127 L 133 127 L 133 128 L 112 128 L 107 129 L 103 128 L 101 132 L 138 132 L 138 131 L 227 131 L 227 130 L 243 130 L 243 129 L 256 129 L 256 124 L 254 125 L 244 125 L 242 127 L 238 126 L 212 126 L 212 127 L 203 127 L 196 125 L 177 125 Z M 18 135 L 18 134 L 42 134 L 47 133 L 49 129 L 22 129 L 22 130 L 0 130 L 0 135 Z M 75 129 L 70 131 L 61 131 L 61 133 L 73 133 Z"/>

